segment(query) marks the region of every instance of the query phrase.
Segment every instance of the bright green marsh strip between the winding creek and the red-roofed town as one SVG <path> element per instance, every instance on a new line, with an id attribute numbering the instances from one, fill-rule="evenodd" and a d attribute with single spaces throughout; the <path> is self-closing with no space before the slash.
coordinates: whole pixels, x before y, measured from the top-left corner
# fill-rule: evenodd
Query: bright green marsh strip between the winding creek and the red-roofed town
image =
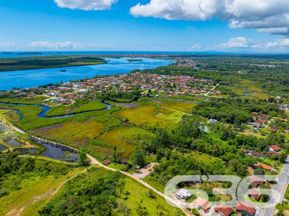
<path id="1" fill-rule="evenodd" d="M 73 105 L 58 105 L 50 107 L 50 110 L 48 110 L 45 113 L 45 116 L 47 117 L 53 117 L 53 116 L 59 116 L 64 114 L 75 114 L 80 112 L 87 112 L 87 111 L 96 111 L 96 110 L 104 110 L 106 108 L 106 105 L 102 104 L 100 101 L 90 101 L 87 104 L 82 104 L 79 107 L 72 108 Z"/>

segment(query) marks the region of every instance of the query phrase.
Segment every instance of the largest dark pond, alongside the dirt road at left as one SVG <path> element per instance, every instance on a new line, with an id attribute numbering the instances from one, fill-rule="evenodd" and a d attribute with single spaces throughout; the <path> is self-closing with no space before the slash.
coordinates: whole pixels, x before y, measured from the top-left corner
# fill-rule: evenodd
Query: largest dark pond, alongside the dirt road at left
<path id="1" fill-rule="evenodd" d="M 62 155 L 66 152 L 69 151 L 72 154 L 77 154 L 76 151 L 74 151 L 73 149 L 70 149 L 66 146 L 61 146 L 58 144 L 54 144 L 51 142 L 44 142 L 42 140 L 36 139 L 36 138 L 31 138 L 34 142 L 42 144 L 44 147 L 46 147 L 46 151 L 42 152 L 43 156 L 45 157 L 49 157 L 52 159 L 56 159 L 56 160 L 62 160 L 64 161 L 64 159 L 66 158 L 64 156 L 64 159 L 62 158 Z M 77 156 L 71 156 L 68 161 L 69 162 L 76 162 L 78 159 Z M 66 161 L 66 160 L 65 160 Z"/>

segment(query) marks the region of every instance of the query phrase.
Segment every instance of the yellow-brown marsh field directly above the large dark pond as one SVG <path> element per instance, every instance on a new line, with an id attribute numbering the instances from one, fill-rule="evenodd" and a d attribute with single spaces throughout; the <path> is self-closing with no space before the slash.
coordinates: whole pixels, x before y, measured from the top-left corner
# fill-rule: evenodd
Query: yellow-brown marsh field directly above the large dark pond
<path id="1" fill-rule="evenodd" d="M 105 124 L 94 121 L 69 122 L 36 129 L 32 133 L 45 139 L 65 142 L 71 146 L 79 147 L 89 139 L 98 136 L 104 127 Z"/>

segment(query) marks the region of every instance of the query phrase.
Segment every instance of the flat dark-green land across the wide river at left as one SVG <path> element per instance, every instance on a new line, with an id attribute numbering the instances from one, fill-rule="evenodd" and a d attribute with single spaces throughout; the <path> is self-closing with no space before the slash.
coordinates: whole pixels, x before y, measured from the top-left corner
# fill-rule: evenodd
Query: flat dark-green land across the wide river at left
<path id="1" fill-rule="evenodd" d="M 58 55 L 3 58 L 0 60 L 0 71 L 28 70 L 53 67 L 71 67 L 108 63 L 96 55 Z"/>

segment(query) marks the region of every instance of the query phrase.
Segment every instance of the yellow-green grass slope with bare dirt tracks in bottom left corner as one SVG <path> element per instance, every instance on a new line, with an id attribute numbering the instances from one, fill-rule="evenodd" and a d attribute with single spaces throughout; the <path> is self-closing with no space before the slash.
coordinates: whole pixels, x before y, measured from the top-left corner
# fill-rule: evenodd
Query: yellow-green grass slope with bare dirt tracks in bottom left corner
<path id="1" fill-rule="evenodd" d="M 21 215 L 37 215 L 37 211 L 45 204 L 51 193 L 68 177 L 74 176 L 83 169 L 75 169 L 59 178 L 31 176 L 22 180 L 19 190 L 12 191 L 7 196 L 0 198 L 0 215 L 5 215 L 14 209 L 15 213 L 12 213 L 12 215 L 17 215 L 17 212 L 24 206 L 26 208 Z"/>

